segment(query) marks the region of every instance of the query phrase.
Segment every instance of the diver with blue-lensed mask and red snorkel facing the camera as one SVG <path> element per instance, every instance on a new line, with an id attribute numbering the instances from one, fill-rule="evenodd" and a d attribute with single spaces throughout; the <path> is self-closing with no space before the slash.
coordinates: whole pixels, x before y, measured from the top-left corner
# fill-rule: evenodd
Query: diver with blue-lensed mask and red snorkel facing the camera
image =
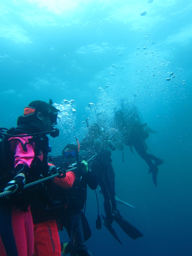
<path id="1" fill-rule="evenodd" d="M 71 168 L 76 168 L 73 171 L 76 179 L 72 188 L 64 191 L 65 210 L 60 219 L 60 228 L 66 228 L 70 242 L 64 244 L 62 253 L 66 255 L 70 252 L 71 256 L 92 256 L 85 245 L 85 241 L 91 237 L 91 230 L 82 209 L 86 207 L 87 185 L 95 190 L 98 182 L 93 172 L 88 169 L 87 162 L 79 162 L 79 149 L 80 145 L 67 144 L 62 151 L 62 157 L 57 156 L 52 162 L 56 166 L 62 166 L 66 173 Z"/>

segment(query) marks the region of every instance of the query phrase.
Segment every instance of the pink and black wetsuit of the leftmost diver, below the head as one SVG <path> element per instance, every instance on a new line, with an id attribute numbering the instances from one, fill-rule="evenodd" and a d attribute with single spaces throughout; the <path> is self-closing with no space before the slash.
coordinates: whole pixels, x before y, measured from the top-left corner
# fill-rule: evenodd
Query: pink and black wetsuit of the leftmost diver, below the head
<path id="1" fill-rule="evenodd" d="M 8 175 L 6 172 L 1 172 L 0 192 L 3 192 L 5 184 L 14 179 L 18 173 L 25 175 L 26 183 L 47 176 L 48 137 L 41 134 L 30 136 L 31 138 L 28 136 L 19 138 L 16 135 L 38 132 L 40 131 L 36 127 L 22 124 L 11 132 L 11 134 L 15 134 L 15 137 L 10 138 L 9 141 L 5 137 L 5 140 L 1 142 L 1 164 L 2 167 L 4 166 L 1 171 L 7 171 Z M 14 168 L 18 159 L 20 162 Z M 33 222 L 28 206 L 35 199 L 40 200 L 43 191 L 44 189 L 40 184 L 23 189 L 20 194 L 13 194 L 8 200 L 2 198 L 0 202 L 1 255 L 33 255 Z"/>

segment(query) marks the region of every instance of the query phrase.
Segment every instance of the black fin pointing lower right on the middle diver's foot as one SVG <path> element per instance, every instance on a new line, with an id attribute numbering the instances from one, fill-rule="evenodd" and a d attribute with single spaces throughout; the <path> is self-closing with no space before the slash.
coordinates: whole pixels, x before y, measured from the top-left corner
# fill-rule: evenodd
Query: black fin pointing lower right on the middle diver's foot
<path id="1" fill-rule="evenodd" d="M 125 220 L 124 218 L 121 218 L 115 214 L 113 214 L 112 217 L 113 220 L 115 220 L 115 222 L 123 229 L 123 231 L 133 240 L 143 236 L 143 234 L 141 234 L 141 232 L 135 228 L 128 220 Z"/>

